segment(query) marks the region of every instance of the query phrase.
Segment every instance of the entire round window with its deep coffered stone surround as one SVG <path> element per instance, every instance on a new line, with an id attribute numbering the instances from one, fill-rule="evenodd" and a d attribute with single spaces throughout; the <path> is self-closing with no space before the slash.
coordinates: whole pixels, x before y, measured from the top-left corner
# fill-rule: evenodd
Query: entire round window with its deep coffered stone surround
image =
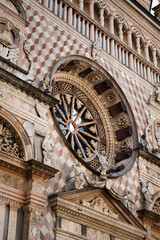
<path id="1" fill-rule="evenodd" d="M 136 134 L 129 105 L 113 81 L 87 61 L 68 61 L 54 73 L 52 96 L 58 100 L 57 129 L 76 159 L 98 175 L 105 170 L 117 177 L 135 161 Z"/>

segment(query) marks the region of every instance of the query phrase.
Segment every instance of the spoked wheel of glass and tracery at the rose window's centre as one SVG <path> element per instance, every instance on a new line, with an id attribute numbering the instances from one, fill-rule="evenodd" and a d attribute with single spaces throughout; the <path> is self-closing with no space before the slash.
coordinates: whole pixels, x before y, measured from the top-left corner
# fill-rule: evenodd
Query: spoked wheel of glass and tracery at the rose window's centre
<path id="1" fill-rule="evenodd" d="M 88 106 L 71 93 L 58 93 L 55 107 L 58 125 L 71 148 L 85 161 L 99 148 L 98 127 Z"/>

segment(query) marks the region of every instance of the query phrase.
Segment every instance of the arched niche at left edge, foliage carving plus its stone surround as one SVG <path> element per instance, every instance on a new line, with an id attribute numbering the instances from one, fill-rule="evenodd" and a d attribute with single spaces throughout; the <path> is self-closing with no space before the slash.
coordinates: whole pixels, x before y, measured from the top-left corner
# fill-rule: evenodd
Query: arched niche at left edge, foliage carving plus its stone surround
<path id="1" fill-rule="evenodd" d="M 31 141 L 17 118 L 0 107 L 0 151 L 28 161 L 34 158 Z"/>

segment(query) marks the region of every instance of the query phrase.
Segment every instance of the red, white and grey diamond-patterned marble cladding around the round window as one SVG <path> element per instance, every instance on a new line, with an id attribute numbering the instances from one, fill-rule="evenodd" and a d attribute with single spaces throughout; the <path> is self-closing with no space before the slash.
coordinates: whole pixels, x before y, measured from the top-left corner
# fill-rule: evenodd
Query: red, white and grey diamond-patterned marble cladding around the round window
<path id="1" fill-rule="evenodd" d="M 79 54 L 91 58 L 90 51 L 85 44 L 79 42 L 72 35 L 65 32 L 54 22 L 42 16 L 37 10 L 23 3 L 28 19 L 29 26 L 26 28 L 27 40 L 31 44 L 31 56 L 33 58 L 34 67 L 36 69 L 36 83 L 41 86 L 43 78 L 48 75 L 53 64 L 61 57 Z M 127 76 L 121 70 L 117 69 L 108 60 L 100 58 L 99 64 L 106 69 L 108 73 L 115 79 L 121 87 L 127 100 L 132 108 L 135 121 L 137 124 L 139 138 L 144 133 L 147 125 L 146 119 L 149 115 L 146 101 L 149 92 L 139 83 Z M 46 194 L 49 195 L 57 191 L 66 191 L 70 189 L 73 181 L 73 163 L 74 159 L 69 153 L 60 139 L 50 116 L 50 139 L 53 143 L 53 158 L 51 165 L 59 169 L 54 180 L 46 182 Z M 134 164 L 132 170 L 125 176 L 114 181 L 114 189 L 122 196 L 126 195 L 126 190 L 131 189 L 132 197 L 135 201 L 136 208 L 140 208 L 140 193 L 138 180 L 137 163 Z M 41 228 L 41 239 L 53 239 L 53 216 L 48 212 L 45 215 L 44 225 Z"/>

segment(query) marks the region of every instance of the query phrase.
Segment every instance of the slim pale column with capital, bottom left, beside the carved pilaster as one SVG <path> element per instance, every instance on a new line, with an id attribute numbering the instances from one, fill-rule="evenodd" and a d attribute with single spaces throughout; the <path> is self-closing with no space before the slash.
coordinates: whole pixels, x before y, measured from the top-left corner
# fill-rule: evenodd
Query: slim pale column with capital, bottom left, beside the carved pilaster
<path id="1" fill-rule="evenodd" d="M 16 203 L 10 203 L 7 240 L 16 240 L 16 223 L 17 223 L 17 212 L 19 207 L 20 206 Z"/>

